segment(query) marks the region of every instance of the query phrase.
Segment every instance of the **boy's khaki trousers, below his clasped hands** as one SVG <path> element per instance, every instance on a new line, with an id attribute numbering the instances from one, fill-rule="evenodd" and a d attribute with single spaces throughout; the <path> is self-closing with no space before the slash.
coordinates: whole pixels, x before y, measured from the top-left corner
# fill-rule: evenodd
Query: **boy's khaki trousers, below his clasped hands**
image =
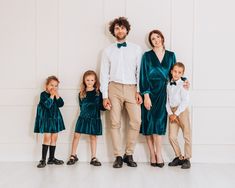
<path id="1" fill-rule="evenodd" d="M 174 113 L 177 110 L 177 107 L 171 108 Z M 178 132 L 179 128 L 182 129 L 183 137 L 184 137 L 184 153 L 185 159 L 189 159 L 192 157 L 192 140 L 191 140 L 191 129 L 190 129 L 190 121 L 189 121 L 189 110 L 186 108 L 184 112 L 182 112 L 178 116 L 179 124 L 177 123 L 169 123 L 169 140 L 170 144 L 174 149 L 176 157 L 182 158 L 183 155 L 181 153 L 179 143 L 178 143 Z"/>

